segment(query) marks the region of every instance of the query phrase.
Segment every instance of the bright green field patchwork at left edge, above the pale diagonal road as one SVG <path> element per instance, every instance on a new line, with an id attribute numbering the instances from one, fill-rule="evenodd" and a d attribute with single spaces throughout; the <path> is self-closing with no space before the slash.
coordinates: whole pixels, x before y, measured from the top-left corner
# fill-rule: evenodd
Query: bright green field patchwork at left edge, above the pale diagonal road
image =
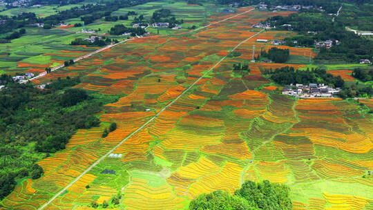
<path id="1" fill-rule="evenodd" d="M 0 50 L 4 53 L 0 57 L 3 73 L 24 71 L 39 73 L 45 67 L 95 50 L 95 48 L 70 46 L 70 42 L 75 38 L 86 38 L 88 35 L 42 28 L 26 28 L 26 31 L 26 35 L 19 39 L 0 45 Z"/>

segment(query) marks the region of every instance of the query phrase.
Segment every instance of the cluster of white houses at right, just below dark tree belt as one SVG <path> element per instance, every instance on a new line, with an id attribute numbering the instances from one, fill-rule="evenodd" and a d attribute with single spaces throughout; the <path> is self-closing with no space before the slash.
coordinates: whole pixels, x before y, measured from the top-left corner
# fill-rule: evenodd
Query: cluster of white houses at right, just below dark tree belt
<path id="1" fill-rule="evenodd" d="M 341 91 L 341 88 L 332 88 L 325 84 L 291 84 L 283 88 L 284 95 L 294 97 L 333 97 L 334 94 Z"/>

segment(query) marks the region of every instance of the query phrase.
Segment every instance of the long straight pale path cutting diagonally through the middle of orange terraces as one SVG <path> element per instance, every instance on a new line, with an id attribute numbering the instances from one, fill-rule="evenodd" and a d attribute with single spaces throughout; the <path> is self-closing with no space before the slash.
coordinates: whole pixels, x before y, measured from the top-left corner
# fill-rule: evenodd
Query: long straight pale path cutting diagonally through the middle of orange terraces
<path id="1" fill-rule="evenodd" d="M 259 32 L 256 32 L 254 35 L 251 35 L 251 37 L 245 39 L 244 41 L 241 41 L 238 45 L 236 45 L 234 48 L 232 48 L 232 50 L 230 51 L 230 53 L 233 52 L 234 50 L 236 50 L 239 46 L 241 46 L 245 42 L 249 41 L 249 39 L 251 39 L 253 37 L 256 37 L 257 35 L 259 35 L 260 33 L 264 32 L 264 31 L 265 31 L 265 29 L 260 30 Z M 133 135 L 135 135 L 136 133 L 138 133 L 139 131 L 141 131 L 142 128 L 144 128 L 145 126 L 147 126 L 149 123 L 153 122 L 153 120 L 155 120 L 155 118 L 157 118 L 161 113 L 163 113 L 167 108 L 169 108 L 169 106 L 171 106 L 172 104 L 174 104 L 176 101 L 178 101 L 178 99 L 180 99 L 180 97 L 182 97 L 185 93 L 187 93 L 189 90 L 191 90 L 191 88 L 193 88 L 193 86 L 195 86 L 195 84 L 198 84 L 198 82 L 200 82 L 200 80 L 202 78 L 204 78 L 207 75 L 209 75 L 211 73 L 211 71 L 216 68 L 216 66 L 218 66 L 225 58 L 228 57 L 228 55 L 229 54 L 227 54 L 224 57 L 222 57 L 222 59 L 220 59 L 214 66 L 212 66 L 209 70 L 207 70 L 206 73 L 204 73 L 201 77 L 199 77 L 198 79 L 196 79 L 195 82 L 193 82 L 187 89 L 185 89 L 182 93 L 180 93 L 180 95 L 178 95 L 178 97 L 176 97 L 169 104 L 167 104 L 166 106 L 164 106 L 164 108 L 162 108 L 157 114 L 155 114 L 153 117 L 151 117 L 151 119 L 149 119 L 144 124 L 142 124 L 142 126 L 140 126 L 139 128 L 137 128 L 131 134 L 127 135 L 121 142 L 119 142 L 116 146 L 114 146 L 113 149 L 111 149 L 110 151 L 106 152 L 104 155 L 102 155 L 101 158 L 99 158 L 93 164 L 91 164 L 86 170 L 84 170 L 73 181 L 71 181 L 70 184 L 66 185 L 66 187 L 64 187 L 63 189 L 61 189 L 57 194 L 55 194 L 52 198 L 50 198 L 50 200 L 48 200 L 48 202 L 44 203 L 41 207 L 39 207 L 39 210 L 44 209 L 45 207 L 47 207 L 48 204 L 50 204 L 51 202 L 53 202 L 59 195 L 63 194 L 66 190 L 68 190 L 68 188 L 70 188 L 71 186 L 73 186 L 73 184 L 75 184 L 75 182 L 77 182 L 80 178 L 82 178 L 84 175 L 86 175 L 86 173 L 88 173 L 91 169 L 93 169 L 93 167 L 97 166 L 97 164 L 99 164 L 100 162 L 102 162 L 102 160 L 104 160 L 109 154 L 113 153 L 113 151 L 115 151 L 115 149 L 117 149 L 124 142 L 126 142 L 126 140 L 128 140 L 130 137 L 132 137 Z"/>

